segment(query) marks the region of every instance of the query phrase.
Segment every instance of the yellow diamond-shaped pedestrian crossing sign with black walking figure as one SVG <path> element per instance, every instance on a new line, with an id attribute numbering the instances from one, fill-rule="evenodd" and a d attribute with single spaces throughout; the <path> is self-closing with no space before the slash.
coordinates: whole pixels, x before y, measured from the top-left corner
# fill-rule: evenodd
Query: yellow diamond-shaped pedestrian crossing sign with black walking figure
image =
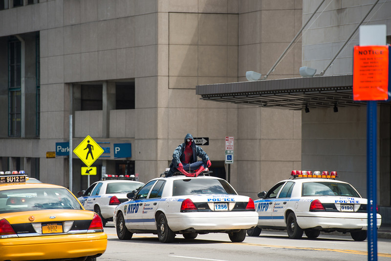
<path id="1" fill-rule="evenodd" d="M 102 155 L 103 151 L 101 146 L 99 146 L 89 135 L 73 150 L 76 156 L 78 156 L 87 166 L 91 166 L 92 163 Z"/>

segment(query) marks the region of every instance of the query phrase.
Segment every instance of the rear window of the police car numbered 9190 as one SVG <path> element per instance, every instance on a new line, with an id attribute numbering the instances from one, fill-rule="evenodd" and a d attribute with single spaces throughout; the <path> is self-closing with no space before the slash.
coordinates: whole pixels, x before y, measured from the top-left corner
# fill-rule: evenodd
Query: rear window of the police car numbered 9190
<path id="1" fill-rule="evenodd" d="M 350 196 L 360 197 L 356 190 L 347 183 L 304 182 L 302 196 Z"/>

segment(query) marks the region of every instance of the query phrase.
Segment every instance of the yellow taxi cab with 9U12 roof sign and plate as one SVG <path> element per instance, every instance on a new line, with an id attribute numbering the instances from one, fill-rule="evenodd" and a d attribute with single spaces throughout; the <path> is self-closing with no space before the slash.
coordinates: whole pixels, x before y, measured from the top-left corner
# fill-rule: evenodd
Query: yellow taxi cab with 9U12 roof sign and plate
<path id="1" fill-rule="evenodd" d="M 69 190 L 7 172 L 0 171 L 0 261 L 93 261 L 106 251 L 102 219 Z"/>

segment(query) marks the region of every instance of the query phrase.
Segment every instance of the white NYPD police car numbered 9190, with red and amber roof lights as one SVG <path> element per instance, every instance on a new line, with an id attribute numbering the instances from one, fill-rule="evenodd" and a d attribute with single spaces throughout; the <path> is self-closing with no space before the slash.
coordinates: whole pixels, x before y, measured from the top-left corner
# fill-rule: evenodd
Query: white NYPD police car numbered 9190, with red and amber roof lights
<path id="1" fill-rule="evenodd" d="M 289 238 L 316 238 L 320 232 L 350 232 L 356 241 L 367 238 L 367 199 L 350 184 L 337 181 L 336 171 L 293 170 L 291 178 L 258 193 L 258 226 L 248 230 L 259 236 L 262 228 L 286 229 Z M 377 214 L 377 228 L 381 215 Z"/>

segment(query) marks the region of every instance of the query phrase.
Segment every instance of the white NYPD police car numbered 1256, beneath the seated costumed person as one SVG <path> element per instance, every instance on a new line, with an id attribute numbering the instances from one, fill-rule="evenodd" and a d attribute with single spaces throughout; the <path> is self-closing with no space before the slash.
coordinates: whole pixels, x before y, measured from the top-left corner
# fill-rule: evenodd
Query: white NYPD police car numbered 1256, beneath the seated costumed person
<path id="1" fill-rule="evenodd" d="M 119 239 L 152 233 L 168 243 L 176 234 L 192 239 L 198 234 L 227 233 L 231 241 L 241 242 L 246 229 L 258 222 L 254 201 L 217 177 L 155 178 L 128 197 L 131 200 L 114 211 Z"/>

